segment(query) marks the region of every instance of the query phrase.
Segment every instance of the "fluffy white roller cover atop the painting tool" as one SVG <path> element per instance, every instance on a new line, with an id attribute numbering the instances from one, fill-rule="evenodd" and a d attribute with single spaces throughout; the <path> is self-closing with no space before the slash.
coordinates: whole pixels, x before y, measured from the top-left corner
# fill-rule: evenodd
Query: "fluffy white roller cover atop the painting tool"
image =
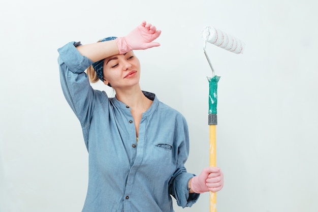
<path id="1" fill-rule="evenodd" d="M 244 51 L 245 44 L 242 41 L 214 27 L 207 26 L 203 29 L 202 37 L 205 40 L 205 44 L 208 42 L 236 54 Z"/>

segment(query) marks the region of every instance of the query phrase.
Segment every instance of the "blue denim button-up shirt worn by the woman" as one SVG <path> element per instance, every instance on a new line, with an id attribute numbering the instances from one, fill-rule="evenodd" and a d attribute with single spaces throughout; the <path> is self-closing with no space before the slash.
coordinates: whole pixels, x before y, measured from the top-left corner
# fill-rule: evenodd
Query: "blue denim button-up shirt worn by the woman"
<path id="1" fill-rule="evenodd" d="M 194 174 L 184 167 L 189 152 L 185 118 L 148 92 L 150 108 L 142 114 L 138 143 L 129 105 L 90 86 L 85 69 L 92 61 L 70 42 L 58 49 L 63 94 L 80 121 L 89 154 L 83 212 L 172 212 L 172 198 L 192 206 Z"/>

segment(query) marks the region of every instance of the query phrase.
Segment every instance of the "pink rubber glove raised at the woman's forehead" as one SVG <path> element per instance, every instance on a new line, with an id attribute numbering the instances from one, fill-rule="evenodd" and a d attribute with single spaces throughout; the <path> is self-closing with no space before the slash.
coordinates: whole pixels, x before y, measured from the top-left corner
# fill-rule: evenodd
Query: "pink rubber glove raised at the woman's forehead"
<path id="1" fill-rule="evenodd" d="M 158 38 L 161 30 L 157 30 L 155 26 L 143 21 L 128 36 L 116 38 L 116 43 L 120 54 L 124 54 L 131 50 L 148 49 L 160 46 L 157 42 L 152 42 Z"/>

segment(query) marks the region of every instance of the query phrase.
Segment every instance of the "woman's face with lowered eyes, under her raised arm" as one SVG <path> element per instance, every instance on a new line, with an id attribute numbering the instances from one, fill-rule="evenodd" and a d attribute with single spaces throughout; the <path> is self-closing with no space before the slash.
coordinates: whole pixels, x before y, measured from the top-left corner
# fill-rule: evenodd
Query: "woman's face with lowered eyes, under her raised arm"
<path id="1" fill-rule="evenodd" d="M 133 51 L 105 58 L 104 83 L 115 88 L 128 88 L 139 83 L 140 63 Z"/>

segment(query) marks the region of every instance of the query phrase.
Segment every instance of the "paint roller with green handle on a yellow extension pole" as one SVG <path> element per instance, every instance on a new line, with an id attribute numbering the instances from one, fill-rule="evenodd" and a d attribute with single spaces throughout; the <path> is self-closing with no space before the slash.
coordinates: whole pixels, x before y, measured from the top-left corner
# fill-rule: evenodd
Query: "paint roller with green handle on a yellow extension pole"
<path id="1" fill-rule="evenodd" d="M 211 43 L 222 49 L 231 51 L 236 54 L 243 53 L 245 44 L 237 38 L 228 35 L 215 27 L 207 26 L 202 31 L 204 39 L 204 54 L 212 70 L 212 77 L 207 77 L 209 81 L 209 116 L 208 124 L 210 127 L 210 166 L 216 166 L 216 125 L 217 125 L 217 82 L 219 76 L 216 76 L 212 67 L 209 56 L 206 52 L 206 44 Z M 216 212 L 216 193 L 210 192 L 210 212 Z"/>

